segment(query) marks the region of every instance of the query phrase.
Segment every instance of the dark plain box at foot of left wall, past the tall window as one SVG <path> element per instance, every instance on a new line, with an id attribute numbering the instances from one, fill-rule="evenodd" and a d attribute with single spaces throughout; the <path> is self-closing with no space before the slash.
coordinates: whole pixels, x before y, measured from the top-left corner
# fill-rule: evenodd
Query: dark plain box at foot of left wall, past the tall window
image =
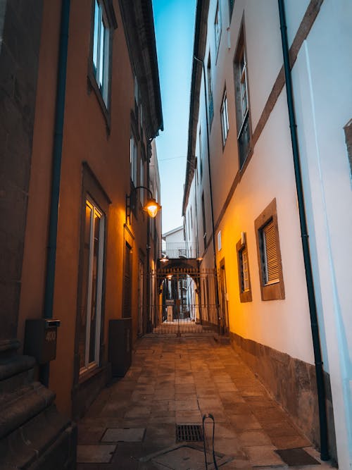
<path id="1" fill-rule="evenodd" d="M 108 349 L 112 376 L 125 376 L 132 362 L 132 319 L 109 321 Z"/>

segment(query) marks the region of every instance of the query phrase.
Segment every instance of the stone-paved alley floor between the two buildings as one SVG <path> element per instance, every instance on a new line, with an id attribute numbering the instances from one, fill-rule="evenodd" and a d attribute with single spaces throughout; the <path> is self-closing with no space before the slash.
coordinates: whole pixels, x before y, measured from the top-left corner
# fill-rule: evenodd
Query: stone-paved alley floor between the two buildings
<path id="1" fill-rule="evenodd" d="M 137 342 L 126 376 L 102 390 L 78 423 L 77 470 L 206 469 L 203 443 L 176 442 L 175 430 L 201 425 L 209 413 L 219 469 L 332 468 L 230 345 L 213 336 L 149 335 Z M 211 435 L 207 419 L 209 463 Z"/>

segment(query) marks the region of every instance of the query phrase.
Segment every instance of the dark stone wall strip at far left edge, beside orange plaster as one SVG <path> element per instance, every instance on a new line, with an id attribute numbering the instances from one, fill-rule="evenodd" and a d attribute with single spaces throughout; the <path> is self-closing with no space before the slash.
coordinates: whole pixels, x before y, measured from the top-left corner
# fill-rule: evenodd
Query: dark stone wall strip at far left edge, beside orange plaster
<path id="1" fill-rule="evenodd" d="M 0 1 L 0 342 L 17 335 L 42 0 Z"/>

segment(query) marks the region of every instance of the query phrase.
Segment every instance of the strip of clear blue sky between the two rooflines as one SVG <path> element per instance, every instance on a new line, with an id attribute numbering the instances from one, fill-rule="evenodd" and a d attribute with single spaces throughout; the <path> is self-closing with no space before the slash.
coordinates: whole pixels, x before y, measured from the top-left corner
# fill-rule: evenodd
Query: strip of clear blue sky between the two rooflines
<path id="1" fill-rule="evenodd" d="M 153 0 L 164 131 L 156 138 L 163 233 L 182 225 L 196 0 Z"/>

